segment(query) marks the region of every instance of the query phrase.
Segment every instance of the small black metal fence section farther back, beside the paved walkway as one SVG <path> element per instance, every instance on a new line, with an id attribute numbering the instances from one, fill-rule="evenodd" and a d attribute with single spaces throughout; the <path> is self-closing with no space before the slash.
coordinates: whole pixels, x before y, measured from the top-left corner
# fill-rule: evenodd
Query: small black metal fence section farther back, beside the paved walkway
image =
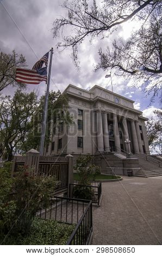
<path id="1" fill-rule="evenodd" d="M 93 184 L 93 183 L 92 183 Z M 80 185 L 75 182 L 75 184 L 70 184 L 70 195 L 72 198 L 88 199 L 92 203 L 97 203 L 99 205 L 102 195 L 102 183 L 101 181 L 95 182 L 95 185 Z"/>

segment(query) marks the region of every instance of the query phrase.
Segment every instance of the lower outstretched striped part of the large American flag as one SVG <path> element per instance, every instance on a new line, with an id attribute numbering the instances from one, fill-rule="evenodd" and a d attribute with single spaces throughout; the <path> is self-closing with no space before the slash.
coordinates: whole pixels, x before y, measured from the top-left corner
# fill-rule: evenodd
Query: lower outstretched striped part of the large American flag
<path id="1" fill-rule="evenodd" d="M 47 67 L 37 70 L 16 69 L 16 81 L 20 83 L 39 84 L 47 83 Z"/>

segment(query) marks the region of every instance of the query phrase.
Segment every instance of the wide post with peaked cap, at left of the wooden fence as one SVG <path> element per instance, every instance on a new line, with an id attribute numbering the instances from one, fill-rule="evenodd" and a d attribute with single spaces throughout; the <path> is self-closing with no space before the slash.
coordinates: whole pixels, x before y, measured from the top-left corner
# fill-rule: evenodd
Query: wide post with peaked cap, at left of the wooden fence
<path id="1" fill-rule="evenodd" d="M 40 159 L 40 153 L 39 153 L 39 151 L 37 151 L 35 149 L 30 149 L 26 153 L 26 160 L 24 162 L 24 166 L 25 167 L 33 167 L 33 172 L 31 173 L 31 175 L 38 174 L 39 159 Z"/>

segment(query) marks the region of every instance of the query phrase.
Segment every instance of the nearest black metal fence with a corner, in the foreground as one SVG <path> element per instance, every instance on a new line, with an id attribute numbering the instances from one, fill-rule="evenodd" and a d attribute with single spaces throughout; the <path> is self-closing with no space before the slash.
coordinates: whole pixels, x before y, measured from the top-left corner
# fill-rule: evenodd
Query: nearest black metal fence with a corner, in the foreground
<path id="1" fill-rule="evenodd" d="M 92 235 L 92 202 L 83 199 L 51 197 L 48 208 L 40 210 L 37 217 L 61 223 L 76 224 L 67 245 L 88 245 Z"/>

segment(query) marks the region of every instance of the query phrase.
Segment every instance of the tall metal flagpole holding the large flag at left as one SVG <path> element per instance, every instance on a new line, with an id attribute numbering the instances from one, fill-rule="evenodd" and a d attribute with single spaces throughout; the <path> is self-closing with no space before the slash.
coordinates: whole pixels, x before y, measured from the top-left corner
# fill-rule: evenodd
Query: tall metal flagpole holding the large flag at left
<path id="1" fill-rule="evenodd" d="M 42 121 L 41 141 L 40 141 L 40 150 L 39 150 L 41 156 L 43 155 L 43 149 L 44 149 L 44 143 L 45 143 L 47 111 L 48 111 L 49 83 L 50 83 L 50 78 L 51 78 L 53 48 L 51 48 L 50 52 L 51 52 L 51 56 L 50 56 L 50 61 L 49 61 L 47 91 L 46 91 L 46 97 L 45 97 L 45 105 L 44 105 L 44 108 L 43 108 L 43 121 Z"/>

